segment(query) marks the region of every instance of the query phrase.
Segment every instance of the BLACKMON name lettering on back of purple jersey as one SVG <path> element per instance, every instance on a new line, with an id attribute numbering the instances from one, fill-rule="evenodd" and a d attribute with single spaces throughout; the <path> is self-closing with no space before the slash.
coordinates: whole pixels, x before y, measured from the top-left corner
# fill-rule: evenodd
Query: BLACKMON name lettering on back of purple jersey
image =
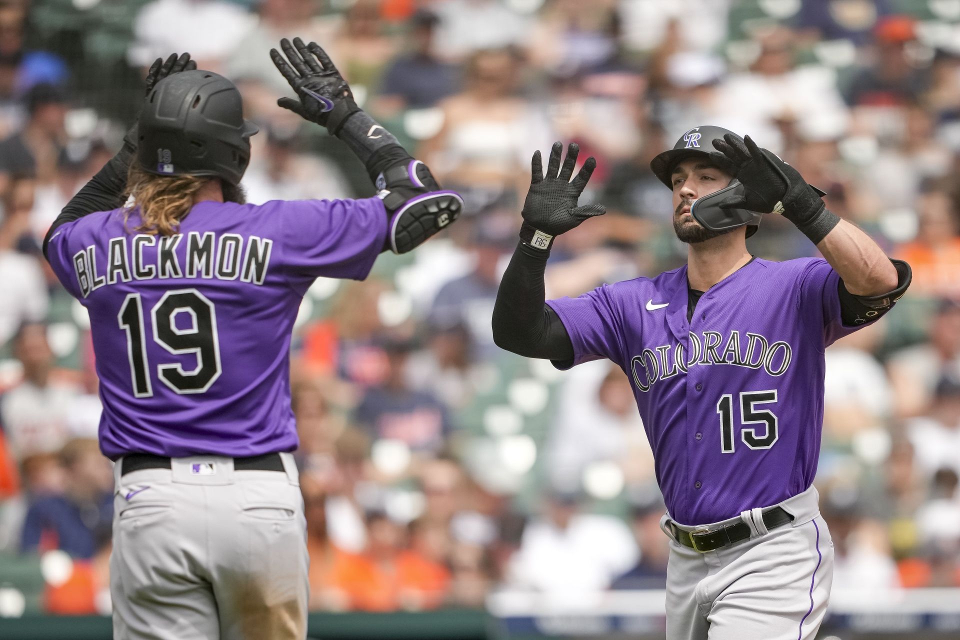
<path id="1" fill-rule="evenodd" d="M 156 236 L 138 233 L 110 238 L 107 273 L 97 272 L 96 251 L 89 245 L 73 255 L 73 268 L 84 297 L 103 286 L 153 278 L 217 278 L 262 285 L 270 267 L 274 241 L 255 235 L 190 231 L 186 234 L 185 264 L 177 248 L 184 234 Z M 156 264 L 143 259 L 145 247 L 156 246 Z"/>

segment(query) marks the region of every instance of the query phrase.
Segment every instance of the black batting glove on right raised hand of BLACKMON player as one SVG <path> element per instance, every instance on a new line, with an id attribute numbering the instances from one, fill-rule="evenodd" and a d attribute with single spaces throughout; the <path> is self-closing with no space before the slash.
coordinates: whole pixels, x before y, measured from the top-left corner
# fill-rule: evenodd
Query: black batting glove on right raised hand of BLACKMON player
<path id="1" fill-rule="evenodd" d="M 286 59 L 276 49 L 270 50 L 270 58 L 300 100 L 280 98 L 276 104 L 336 135 L 344 121 L 360 110 L 347 81 L 316 42 L 303 44 L 303 40 L 295 37 L 291 44 L 283 38 L 280 48 Z"/>

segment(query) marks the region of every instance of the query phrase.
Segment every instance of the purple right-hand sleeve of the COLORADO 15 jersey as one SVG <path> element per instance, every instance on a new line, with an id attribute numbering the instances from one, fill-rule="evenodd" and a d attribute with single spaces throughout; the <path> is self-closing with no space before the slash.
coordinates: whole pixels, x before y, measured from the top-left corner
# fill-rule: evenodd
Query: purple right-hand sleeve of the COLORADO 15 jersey
<path id="1" fill-rule="evenodd" d="M 823 258 L 810 260 L 800 275 L 800 312 L 811 328 L 811 336 L 821 337 L 825 347 L 876 321 L 845 324 L 840 308 L 839 286 L 840 274 Z"/>

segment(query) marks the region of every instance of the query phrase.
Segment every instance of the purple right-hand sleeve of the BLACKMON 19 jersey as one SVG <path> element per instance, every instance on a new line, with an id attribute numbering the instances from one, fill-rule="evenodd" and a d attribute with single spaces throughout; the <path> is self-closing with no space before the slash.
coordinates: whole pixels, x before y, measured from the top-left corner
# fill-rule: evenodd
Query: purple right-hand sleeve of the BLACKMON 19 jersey
<path id="1" fill-rule="evenodd" d="M 283 263 L 295 277 L 363 280 L 387 237 L 387 212 L 377 198 L 277 203 Z"/>

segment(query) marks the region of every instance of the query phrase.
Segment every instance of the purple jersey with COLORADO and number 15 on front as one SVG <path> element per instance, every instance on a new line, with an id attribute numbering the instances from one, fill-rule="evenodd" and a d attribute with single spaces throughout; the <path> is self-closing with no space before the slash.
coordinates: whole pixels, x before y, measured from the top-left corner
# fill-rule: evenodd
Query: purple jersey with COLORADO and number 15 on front
<path id="1" fill-rule="evenodd" d="M 667 509 L 700 525 L 813 482 L 824 348 L 859 328 L 841 320 L 838 283 L 823 259 L 755 259 L 710 288 L 689 322 L 685 266 L 547 304 L 574 365 L 609 358 L 627 373 Z"/>

